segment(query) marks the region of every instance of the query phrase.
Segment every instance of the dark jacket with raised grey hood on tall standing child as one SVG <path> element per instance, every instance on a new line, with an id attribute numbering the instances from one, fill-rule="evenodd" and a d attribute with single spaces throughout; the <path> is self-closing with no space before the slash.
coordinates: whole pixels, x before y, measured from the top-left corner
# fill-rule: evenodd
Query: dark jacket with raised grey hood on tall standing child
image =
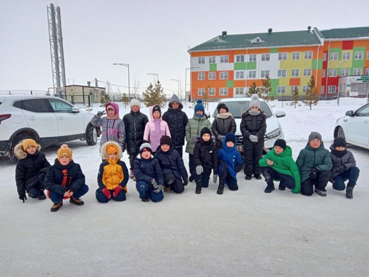
<path id="1" fill-rule="evenodd" d="M 179 108 L 173 109 L 171 106 L 172 102 L 178 102 Z M 168 110 L 161 118 L 168 123 L 174 147 L 183 146 L 185 145 L 186 125 L 188 123 L 187 114 L 181 110 L 183 105 L 175 94 L 170 98 L 168 107 Z"/>

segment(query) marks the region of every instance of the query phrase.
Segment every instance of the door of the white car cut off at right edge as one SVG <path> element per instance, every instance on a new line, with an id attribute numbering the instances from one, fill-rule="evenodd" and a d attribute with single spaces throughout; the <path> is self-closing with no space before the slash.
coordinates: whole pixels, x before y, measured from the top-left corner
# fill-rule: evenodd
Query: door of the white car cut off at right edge
<path id="1" fill-rule="evenodd" d="M 348 117 L 347 137 L 353 143 L 369 146 L 369 104 Z"/>

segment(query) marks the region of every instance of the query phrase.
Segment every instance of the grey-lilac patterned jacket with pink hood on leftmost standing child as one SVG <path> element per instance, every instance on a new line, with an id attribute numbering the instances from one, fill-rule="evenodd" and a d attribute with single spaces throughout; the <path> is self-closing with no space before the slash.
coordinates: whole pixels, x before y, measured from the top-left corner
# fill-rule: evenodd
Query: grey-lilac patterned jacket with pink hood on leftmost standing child
<path id="1" fill-rule="evenodd" d="M 119 114 L 119 106 L 115 103 L 110 103 L 115 109 L 115 114 Z M 102 115 L 102 114 L 101 114 Z M 109 119 L 104 116 L 101 118 L 101 115 L 95 114 L 92 117 L 91 124 L 93 126 L 101 126 L 103 127 L 103 132 L 101 133 L 100 138 L 100 147 L 108 142 L 118 142 L 120 147 L 124 149 L 125 140 L 126 140 L 126 130 L 124 122 L 118 118 L 116 120 Z"/>

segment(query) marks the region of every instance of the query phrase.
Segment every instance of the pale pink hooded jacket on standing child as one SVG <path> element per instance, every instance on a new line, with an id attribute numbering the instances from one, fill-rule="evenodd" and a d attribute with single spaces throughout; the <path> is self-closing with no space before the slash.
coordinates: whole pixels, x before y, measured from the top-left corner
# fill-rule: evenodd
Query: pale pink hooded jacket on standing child
<path id="1" fill-rule="evenodd" d="M 156 152 L 158 146 L 160 145 L 161 136 L 170 136 L 168 124 L 161 120 L 161 117 L 157 119 L 153 117 L 152 113 L 155 106 L 150 107 L 150 121 L 146 124 L 144 132 L 144 141 L 150 143 L 153 152 Z"/>

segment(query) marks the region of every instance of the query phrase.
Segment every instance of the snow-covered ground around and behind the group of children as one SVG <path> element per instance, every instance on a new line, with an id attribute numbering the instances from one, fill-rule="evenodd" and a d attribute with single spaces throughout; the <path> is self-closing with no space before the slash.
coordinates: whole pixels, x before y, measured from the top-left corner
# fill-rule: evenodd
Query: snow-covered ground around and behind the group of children
<path id="1" fill-rule="evenodd" d="M 317 106 L 270 102 L 296 158 L 311 131 L 326 147 L 333 127 L 347 110 L 366 99 L 341 98 Z M 209 105 L 212 111 L 215 103 Z M 95 108 L 97 111 L 98 108 Z M 189 117 L 193 110 L 183 109 Z M 120 105 L 120 115 L 129 108 Z M 148 114 L 148 108 L 142 108 Z M 369 150 L 351 146 L 361 170 L 354 199 L 327 187 L 327 197 L 290 191 L 263 192 L 264 181 L 245 181 L 239 190 L 217 195 L 210 184 L 200 195 L 190 183 L 182 194 L 165 193 L 160 203 L 143 203 L 135 183 L 127 201 L 97 203 L 99 146 L 73 141 L 90 191 L 85 205 L 68 202 L 55 213 L 49 199 L 18 200 L 15 165 L 0 157 L 1 276 L 367 276 L 369 267 Z M 43 149 L 50 163 L 58 146 Z M 185 154 L 188 165 L 188 154 Z M 124 153 L 123 160 L 128 163 Z"/>

